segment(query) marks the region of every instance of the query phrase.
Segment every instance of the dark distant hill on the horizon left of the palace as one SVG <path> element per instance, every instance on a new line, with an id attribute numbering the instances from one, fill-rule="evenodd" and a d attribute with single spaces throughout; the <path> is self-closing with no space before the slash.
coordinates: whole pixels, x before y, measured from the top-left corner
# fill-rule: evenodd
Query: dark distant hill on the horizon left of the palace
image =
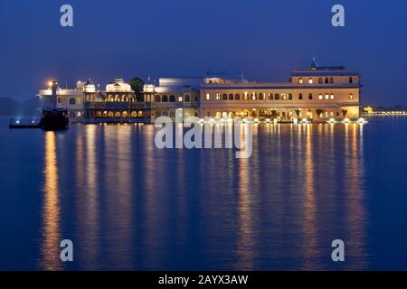
<path id="1" fill-rule="evenodd" d="M 38 98 L 30 98 L 23 102 L 13 98 L 0 98 L 0 116 L 35 116 L 38 115 Z"/>

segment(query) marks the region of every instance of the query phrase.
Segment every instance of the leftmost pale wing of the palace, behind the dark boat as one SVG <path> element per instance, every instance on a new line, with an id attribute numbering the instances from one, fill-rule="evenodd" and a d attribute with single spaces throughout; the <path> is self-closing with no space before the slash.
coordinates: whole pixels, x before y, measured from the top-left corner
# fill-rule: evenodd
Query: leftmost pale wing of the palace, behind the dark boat
<path id="1" fill-rule="evenodd" d="M 83 82 L 77 81 L 75 89 L 57 88 L 56 107 L 67 108 L 71 121 L 79 121 L 82 118 L 83 101 L 82 92 Z M 52 107 L 52 81 L 48 89 L 40 89 L 38 92 L 40 98 L 40 108 Z"/>

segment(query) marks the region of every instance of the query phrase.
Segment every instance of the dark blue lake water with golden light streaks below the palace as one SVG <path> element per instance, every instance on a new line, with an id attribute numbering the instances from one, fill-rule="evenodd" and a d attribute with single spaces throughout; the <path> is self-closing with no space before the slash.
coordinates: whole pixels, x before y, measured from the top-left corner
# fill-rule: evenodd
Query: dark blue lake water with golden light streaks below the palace
<path id="1" fill-rule="evenodd" d="M 407 270 L 407 117 L 254 125 L 249 159 L 157 149 L 152 125 L 7 125 L 2 270 Z"/>

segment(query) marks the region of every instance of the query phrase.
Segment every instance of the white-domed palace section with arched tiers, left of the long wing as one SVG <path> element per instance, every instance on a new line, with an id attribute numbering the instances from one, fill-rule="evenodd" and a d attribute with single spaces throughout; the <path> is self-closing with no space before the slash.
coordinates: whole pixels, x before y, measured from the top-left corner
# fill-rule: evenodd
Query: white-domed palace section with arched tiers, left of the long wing
<path id="1" fill-rule="evenodd" d="M 148 121 L 150 111 L 137 102 L 134 91 L 123 79 L 114 79 L 105 91 L 97 91 L 90 82 L 83 87 L 84 114 L 87 122 Z"/>

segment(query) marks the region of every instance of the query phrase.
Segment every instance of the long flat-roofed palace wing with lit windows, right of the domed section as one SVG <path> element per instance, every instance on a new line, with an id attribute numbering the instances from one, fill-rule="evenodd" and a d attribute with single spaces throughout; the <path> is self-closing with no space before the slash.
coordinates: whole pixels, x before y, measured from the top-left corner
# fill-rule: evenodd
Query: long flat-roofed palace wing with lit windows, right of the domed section
<path id="1" fill-rule="evenodd" d="M 293 70 L 289 82 L 252 82 L 242 77 L 207 74 L 202 78 L 160 79 L 145 86 L 152 117 L 359 117 L 360 75 L 344 67 Z M 198 97 L 198 98 L 196 98 Z"/>

